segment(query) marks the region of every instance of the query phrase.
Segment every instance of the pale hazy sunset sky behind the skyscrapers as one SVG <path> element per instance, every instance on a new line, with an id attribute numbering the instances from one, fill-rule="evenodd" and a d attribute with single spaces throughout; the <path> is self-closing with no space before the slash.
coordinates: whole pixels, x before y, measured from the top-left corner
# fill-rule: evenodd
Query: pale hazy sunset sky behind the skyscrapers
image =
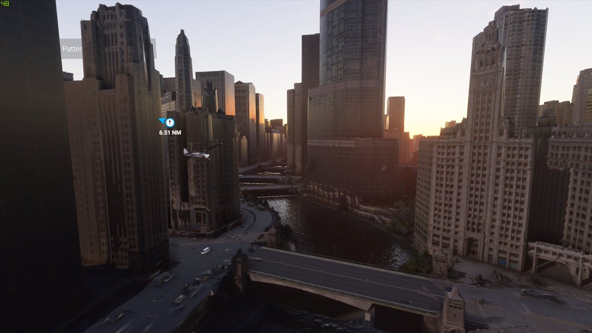
<path id="1" fill-rule="evenodd" d="M 175 75 L 175 39 L 189 39 L 193 70 L 226 70 L 265 95 L 265 117 L 286 117 L 286 90 L 300 82 L 301 35 L 318 33 L 319 1 L 125 1 L 141 9 L 156 39 L 157 71 Z M 99 3 L 58 0 L 60 38 L 80 38 Z M 436 135 L 466 116 L 471 41 L 503 5 L 549 8 L 540 100 L 571 100 L 578 73 L 592 68 L 592 1 L 389 1 L 386 95 L 405 96 L 405 128 Z M 82 79 L 82 59 L 62 60 Z M 386 103 L 385 103 L 386 106 Z"/>

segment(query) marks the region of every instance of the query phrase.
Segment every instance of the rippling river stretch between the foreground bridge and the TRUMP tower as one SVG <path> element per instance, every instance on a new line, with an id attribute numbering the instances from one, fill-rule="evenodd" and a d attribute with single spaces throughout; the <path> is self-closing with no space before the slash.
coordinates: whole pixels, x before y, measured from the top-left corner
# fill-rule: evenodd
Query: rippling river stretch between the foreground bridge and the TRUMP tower
<path id="1" fill-rule="evenodd" d="M 265 199 L 294 230 L 298 251 L 390 268 L 411 257 L 397 238 L 355 216 L 295 196 Z"/>

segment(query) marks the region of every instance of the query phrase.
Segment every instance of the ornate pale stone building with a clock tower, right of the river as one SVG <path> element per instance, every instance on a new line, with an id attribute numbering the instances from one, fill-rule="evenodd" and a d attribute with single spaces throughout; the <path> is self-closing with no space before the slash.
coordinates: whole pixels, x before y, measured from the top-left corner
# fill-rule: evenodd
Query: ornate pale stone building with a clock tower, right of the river
<path id="1" fill-rule="evenodd" d="M 528 117 L 505 117 L 522 95 L 506 95 L 516 72 L 504 67 L 501 31 L 491 21 L 473 39 L 467 119 L 420 141 L 414 246 L 524 270 L 535 139 L 514 134 Z"/>

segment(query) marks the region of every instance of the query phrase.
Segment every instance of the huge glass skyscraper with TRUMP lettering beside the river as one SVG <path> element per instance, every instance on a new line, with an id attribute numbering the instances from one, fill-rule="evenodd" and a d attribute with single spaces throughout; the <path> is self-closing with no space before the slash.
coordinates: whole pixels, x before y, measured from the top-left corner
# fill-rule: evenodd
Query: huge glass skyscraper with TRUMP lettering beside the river
<path id="1" fill-rule="evenodd" d="M 307 196 L 392 204 L 398 143 L 383 139 L 386 0 L 321 1 L 319 87 L 308 90 Z"/>

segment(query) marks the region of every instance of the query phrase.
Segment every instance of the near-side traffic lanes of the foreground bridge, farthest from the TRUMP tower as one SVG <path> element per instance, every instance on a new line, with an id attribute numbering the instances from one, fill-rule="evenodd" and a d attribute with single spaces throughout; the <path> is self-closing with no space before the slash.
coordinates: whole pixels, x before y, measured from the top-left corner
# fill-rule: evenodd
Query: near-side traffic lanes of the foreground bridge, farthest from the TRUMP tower
<path id="1" fill-rule="evenodd" d="M 416 306 L 427 310 L 441 310 L 442 302 L 432 297 L 427 297 L 417 290 L 406 287 L 393 286 L 388 280 L 375 281 L 366 278 L 355 278 L 347 274 L 337 274 L 326 268 L 301 267 L 286 262 L 271 263 L 267 265 L 250 265 L 250 269 L 261 271 L 275 276 L 281 276 L 305 283 L 317 284 L 343 292 L 361 294 L 402 305 Z M 435 298 L 435 297 L 434 297 Z"/>

